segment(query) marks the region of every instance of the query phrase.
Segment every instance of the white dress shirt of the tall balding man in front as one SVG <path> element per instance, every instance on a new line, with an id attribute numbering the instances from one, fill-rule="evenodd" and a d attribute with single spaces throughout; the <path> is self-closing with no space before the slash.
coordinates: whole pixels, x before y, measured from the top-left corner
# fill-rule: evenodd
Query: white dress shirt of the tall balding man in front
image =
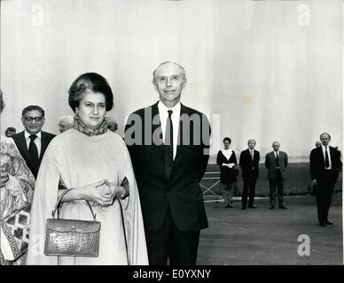
<path id="1" fill-rule="evenodd" d="M 166 132 L 166 122 L 168 120 L 168 111 L 171 110 L 172 112 L 172 126 L 173 126 L 173 159 L 176 158 L 176 145 L 178 143 L 178 132 L 179 132 L 179 119 L 180 119 L 180 103 L 176 103 L 175 106 L 172 108 L 168 108 L 165 104 L 159 102 L 158 103 L 159 109 L 159 116 L 160 116 L 160 124 L 161 124 L 161 131 L 162 131 L 162 140 L 165 141 L 165 132 Z"/>

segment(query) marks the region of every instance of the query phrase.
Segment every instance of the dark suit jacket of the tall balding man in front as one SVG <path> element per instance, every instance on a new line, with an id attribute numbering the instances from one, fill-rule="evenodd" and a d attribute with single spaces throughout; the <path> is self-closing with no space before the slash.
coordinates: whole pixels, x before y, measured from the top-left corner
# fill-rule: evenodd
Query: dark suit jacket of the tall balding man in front
<path id="1" fill-rule="evenodd" d="M 152 118 L 157 119 L 154 123 L 150 119 L 151 111 Z M 184 123 L 182 119 L 180 120 L 179 137 L 181 137 L 181 133 L 184 133 L 190 139 L 190 143 L 185 144 L 181 141 L 177 145 L 172 173 L 168 180 L 165 177 L 164 147 L 158 103 L 130 114 L 126 125 L 125 139 L 137 179 L 145 229 L 148 231 L 156 231 L 160 228 L 168 206 L 178 229 L 197 231 L 207 227 L 207 214 L 199 181 L 207 168 L 209 156 L 204 149 L 207 150 L 209 147 L 210 126 L 204 114 L 182 104 L 181 116 L 183 114 L 186 114 L 186 117 L 192 116 L 199 119 L 200 129 L 191 122 L 190 133 L 183 131 Z M 134 116 L 141 119 L 142 125 L 140 122 L 135 123 L 131 120 Z M 205 118 L 203 121 L 202 117 Z M 134 128 L 137 132 L 132 134 L 131 130 Z M 201 130 L 204 128 L 207 128 L 207 131 Z M 142 136 L 139 136 L 140 131 L 142 131 Z M 155 134 L 155 137 L 158 136 L 160 145 L 147 142 L 147 140 L 152 140 L 154 132 L 160 133 Z M 196 140 L 194 140 L 194 134 Z M 202 135 L 205 136 L 203 141 Z M 128 141 L 133 136 L 138 142 L 130 145 Z M 197 142 L 199 137 L 200 142 Z M 139 144 L 140 142 L 141 144 Z"/>

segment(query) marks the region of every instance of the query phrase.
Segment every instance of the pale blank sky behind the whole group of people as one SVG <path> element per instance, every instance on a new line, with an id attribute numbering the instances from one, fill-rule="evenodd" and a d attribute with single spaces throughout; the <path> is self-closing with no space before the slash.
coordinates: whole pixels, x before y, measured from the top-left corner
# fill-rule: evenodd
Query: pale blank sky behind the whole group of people
<path id="1" fill-rule="evenodd" d="M 57 133 L 70 84 L 97 72 L 122 133 L 129 112 L 158 100 L 152 71 L 172 60 L 186 69 L 183 102 L 220 114 L 215 149 L 254 137 L 262 153 L 279 141 L 307 158 L 324 131 L 341 149 L 341 14 L 341 1 L 2 1 L 1 132 L 39 104 Z"/>

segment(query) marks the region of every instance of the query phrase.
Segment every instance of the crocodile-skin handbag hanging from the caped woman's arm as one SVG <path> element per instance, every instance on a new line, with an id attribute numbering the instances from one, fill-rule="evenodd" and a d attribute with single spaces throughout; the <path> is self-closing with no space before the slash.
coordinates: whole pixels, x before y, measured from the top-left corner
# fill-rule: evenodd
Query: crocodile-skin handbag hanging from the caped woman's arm
<path id="1" fill-rule="evenodd" d="M 98 257 L 100 222 L 96 220 L 90 203 L 93 221 L 59 218 L 59 203 L 69 190 L 64 191 L 52 210 L 45 226 L 45 256 L 90 256 Z M 58 210 L 58 218 L 55 213 Z"/>

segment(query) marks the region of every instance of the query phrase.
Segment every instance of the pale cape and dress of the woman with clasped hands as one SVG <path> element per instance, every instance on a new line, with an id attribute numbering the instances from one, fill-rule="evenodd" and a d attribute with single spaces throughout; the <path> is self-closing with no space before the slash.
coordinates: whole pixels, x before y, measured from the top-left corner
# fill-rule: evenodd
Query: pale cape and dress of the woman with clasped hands
<path id="1" fill-rule="evenodd" d="M 101 223 L 98 257 L 43 255 L 45 223 L 57 202 L 60 179 L 71 188 L 105 179 L 120 186 L 125 178 L 129 181 L 127 198 L 108 207 L 91 203 Z M 118 134 L 107 131 L 87 136 L 72 128 L 55 137 L 43 157 L 31 211 L 27 264 L 148 264 L 137 183 L 127 147 Z M 85 201 L 63 203 L 59 217 L 92 220 Z"/>

